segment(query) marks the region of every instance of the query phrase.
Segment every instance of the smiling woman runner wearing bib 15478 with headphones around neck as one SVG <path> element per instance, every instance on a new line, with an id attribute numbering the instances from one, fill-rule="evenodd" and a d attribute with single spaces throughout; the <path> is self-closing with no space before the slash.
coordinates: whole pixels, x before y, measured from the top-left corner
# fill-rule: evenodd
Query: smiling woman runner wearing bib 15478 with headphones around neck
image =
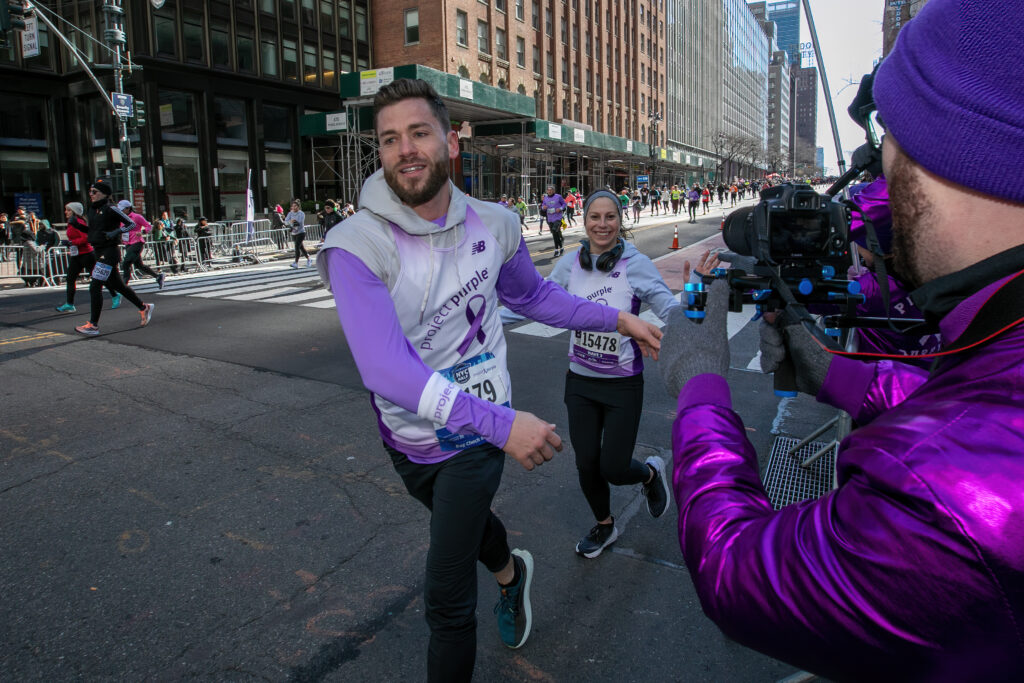
<path id="1" fill-rule="evenodd" d="M 679 301 L 650 259 L 623 239 L 617 198 L 605 189 L 594 193 L 584 204 L 583 217 L 587 240 L 579 252 L 558 261 L 551 280 L 571 294 L 634 314 L 641 302 L 647 303 L 667 319 Z M 609 484 L 643 484 L 652 517 L 669 508 L 662 459 L 651 456 L 641 463 L 633 458 L 643 410 L 643 361 L 636 343 L 614 332 L 572 332 L 565 407 L 580 487 L 597 522 L 575 550 L 594 558 L 618 538 Z"/>

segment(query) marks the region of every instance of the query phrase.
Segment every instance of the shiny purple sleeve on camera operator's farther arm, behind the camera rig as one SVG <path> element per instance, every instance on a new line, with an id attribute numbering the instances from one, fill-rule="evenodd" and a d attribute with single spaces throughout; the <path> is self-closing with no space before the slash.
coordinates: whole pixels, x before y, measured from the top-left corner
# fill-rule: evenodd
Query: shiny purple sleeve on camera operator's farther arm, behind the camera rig
<path id="1" fill-rule="evenodd" d="M 817 399 L 846 411 L 863 425 L 902 403 L 927 379 L 928 372 L 903 362 L 836 356 Z"/>

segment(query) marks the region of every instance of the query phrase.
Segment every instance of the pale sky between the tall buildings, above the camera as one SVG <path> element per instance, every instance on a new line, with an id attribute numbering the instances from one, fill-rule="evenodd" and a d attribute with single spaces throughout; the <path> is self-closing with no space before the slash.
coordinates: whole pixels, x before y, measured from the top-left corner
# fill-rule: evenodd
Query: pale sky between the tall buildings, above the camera
<path id="1" fill-rule="evenodd" d="M 882 58 L 883 5 L 882 0 L 811 0 L 811 12 L 828 75 L 839 137 L 847 165 L 852 152 L 864 142 L 864 132 L 853 123 L 846 108 L 857 94 L 860 77 L 869 74 L 876 59 Z M 811 40 L 806 18 L 803 18 L 800 36 L 801 42 Z M 818 146 L 824 147 L 826 171 L 837 173 L 839 165 L 836 161 L 836 143 L 833 141 L 828 111 L 822 92 L 819 82 Z"/>

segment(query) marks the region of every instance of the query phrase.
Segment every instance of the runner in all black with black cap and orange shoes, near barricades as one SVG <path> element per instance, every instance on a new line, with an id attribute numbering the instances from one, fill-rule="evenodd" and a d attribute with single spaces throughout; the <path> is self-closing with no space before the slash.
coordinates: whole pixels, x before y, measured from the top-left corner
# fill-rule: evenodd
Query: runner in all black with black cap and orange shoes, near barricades
<path id="1" fill-rule="evenodd" d="M 145 327 L 153 317 L 152 303 L 142 303 L 135 292 L 121 280 L 118 263 L 121 261 L 121 238 L 134 224 L 116 204 L 111 201 L 114 190 L 104 180 L 96 180 L 89 186 L 89 209 L 86 218 L 89 224 L 89 244 L 96 255 L 89 283 L 91 310 L 89 322 L 75 328 L 75 332 L 89 337 L 99 334 L 99 314 L 103 310 L 103 288 L 111 295 L 120 294 L 138 308 L 139 327 Z"/>

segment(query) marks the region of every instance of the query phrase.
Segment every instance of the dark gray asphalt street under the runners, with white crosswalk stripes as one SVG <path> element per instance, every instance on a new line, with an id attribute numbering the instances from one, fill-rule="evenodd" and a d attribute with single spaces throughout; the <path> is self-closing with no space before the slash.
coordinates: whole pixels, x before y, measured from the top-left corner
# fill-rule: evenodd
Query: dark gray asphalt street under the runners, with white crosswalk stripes
<path id="1" fill-rule="evenodd" d="M 680 244 L 716 240 L 721 215 L 678 221 Z M 676 222 L 642 220 L 638 247 L 668 255 Z M 535 229 L 547 273 L 550 238 Z M 72 329 L 86 292 L 70 315 L 53 310 L 61 290 L 0 292 L 0 680 L 424 678 L 428 517 L 381 447 L 334 310 L 312 305 L 325 299 L 301 270 L 169 278 L 164 293 L 142 281 L 151 326 L 125 304 L 104 310 L 94 339 Z M 294 300 L 245 298 L 255 281 Z M 638 488 L 613 490 L 612 552 L 575 556 L 592 520 L 565 428 L 566 338 L 527 326 L 506 330 L 515 402 L 558 424 L 566 447 L 534 472 L 507 463 L 495 510 L 535 557 L 534 631 L 520 650 L 502 646 L 481 570 L 476 680 L 794 674 L 703 616 L 674 514 L 650 519 Z M 737 328 L 734 403 L 766 454 L 776 419 L 802 434 L 826 414 L 804 399 L 779 413 L 748 370 L 754 326 Z M 637 456 L 671 460 L 673 401 L 655 364 L 645 379 Z"/>

